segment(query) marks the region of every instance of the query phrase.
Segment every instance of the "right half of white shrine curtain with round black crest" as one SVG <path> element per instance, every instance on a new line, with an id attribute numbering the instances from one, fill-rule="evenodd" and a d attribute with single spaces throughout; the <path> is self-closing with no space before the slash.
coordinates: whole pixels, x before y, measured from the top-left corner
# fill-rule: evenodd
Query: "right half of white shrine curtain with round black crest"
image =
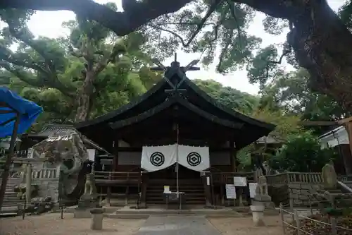
<path id="1" fill-rule="evenodd" d="M 178 145 L 178 162 L 194 171 L 204 171 L 210 167 L 209 147 Z"/>

